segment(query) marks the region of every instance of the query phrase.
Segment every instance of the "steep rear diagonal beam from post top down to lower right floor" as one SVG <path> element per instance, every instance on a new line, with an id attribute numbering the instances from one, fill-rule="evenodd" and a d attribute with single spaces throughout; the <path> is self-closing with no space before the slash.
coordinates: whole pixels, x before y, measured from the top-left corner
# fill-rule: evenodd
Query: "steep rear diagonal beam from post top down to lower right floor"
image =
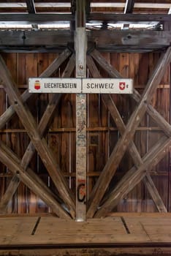
<path id="1" fill-rule="evenodd" d="M 99 74 L 99 70 L 94 65 L 93 59 L 91 59 L 91 56 L 88 56 L 87 65 L 91 75 L 94 78 L 101 77 L 101 75 Z M 104 102 L 104 105 L 106 105 L 106 107 L 110 111 L 110 115 L 113 117 L 113 120 L 115 121 L 115 124 L 118 127 L 118 131 L 121 133 L 121 135 L 123 135 L 123 133 L 126 130 L 126 126 L 123 123 L 121 115 L 118 113 L 118 109 L 116 108 L 115 103 L 113 102 L 113 99 L 109 94 L 102 94 L 102 100 Z M 142 161 L 142 158 L 140 157 L 139 152 L 137 151 L 137 147 L 134 145 L 133 140 L 129 143 L 128 151 L 130 156 L 133 159 L 135 167 L 137 168 L 140 167 L 140 165 L 143 164 L 143 161 Z M 151 179 L 151 176 L 148 173 L 144 178 L 144 182 L 148 188 L 148 192 L 150 193 L 158 211 L 167 212 L 167 209 L 164 206 L 164 203 L 159 195 L 159 192 L 157 191 L 156 186 L 153 184 L 153 180 Z"/>

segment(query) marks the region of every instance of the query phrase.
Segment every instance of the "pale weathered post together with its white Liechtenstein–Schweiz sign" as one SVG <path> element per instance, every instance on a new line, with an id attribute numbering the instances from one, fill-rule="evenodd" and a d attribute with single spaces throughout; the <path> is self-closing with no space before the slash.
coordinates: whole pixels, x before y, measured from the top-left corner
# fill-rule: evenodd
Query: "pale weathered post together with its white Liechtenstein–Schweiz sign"
<path id="1" fill-rule="evenodd" d="M 78 37 L 78 38 L 77 38 Z M 76 30 L 77 78 L 29 78 L 31 93 L 76 94 L 76 221 L 86 221 L 86 94 L 132 94 L 133 80 L 125 78 L 86 78 L 86 33 Z M 83 42 L 85 45 L 83 46 Z M 80 42 L 82 42 L 80 44 Z M 83 54 L 84 53 L 84 54 Z M 82 56 L 83 55 L 83 56 Z"/>

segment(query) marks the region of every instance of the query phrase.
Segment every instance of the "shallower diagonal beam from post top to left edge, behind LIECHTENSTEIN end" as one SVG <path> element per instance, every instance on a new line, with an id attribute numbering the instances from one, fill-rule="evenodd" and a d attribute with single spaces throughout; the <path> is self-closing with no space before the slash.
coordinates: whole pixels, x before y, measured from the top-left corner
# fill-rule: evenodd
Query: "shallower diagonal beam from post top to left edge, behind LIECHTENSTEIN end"
<path id="1" fill-rule="evenodd" d="M 63 53 L 58 56 L 58 58 L 54 59 L 54 61 L 50 64 L 41 75 L 40 78 L 48 78 L 61 66 L 61 64 L 71 55 L 71 51 L 66 48 Z M 33 94 L 28 92 L 28 89 L 23 92 L 20 96 L 23 102 L 26 102 Z M 15 113 L 15 108 L 13 105 L 10 105 L 7 110 L 0 116 L 0 129 L 4 127 L 5 124 L 12 118 L 13 114 Z"/>

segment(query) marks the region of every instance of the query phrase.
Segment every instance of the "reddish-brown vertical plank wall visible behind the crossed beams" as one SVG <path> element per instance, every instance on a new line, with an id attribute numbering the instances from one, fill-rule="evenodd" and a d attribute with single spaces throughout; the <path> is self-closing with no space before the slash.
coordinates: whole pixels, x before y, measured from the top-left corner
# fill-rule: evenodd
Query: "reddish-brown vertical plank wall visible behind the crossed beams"
<path id="1" fill-rule="evenodd" d="M 12 73 L 12 77 L 18 84 L 22 93 L 27 88 L 29 77 L 37 77 L 58 55 L 56 53 L 4 53 L 3 58 L 7 67 Z M 148 81 L 156 61 L 159 59 L 159 53 L 103 53 L 103 56 L 113 65 L 125 78 L 134 79 L 134 87 L 142 93 Z M 63 65 L 65 67 L 65 64 Z M 58 69 L 56 77 L 60 77 L 64 67 Z M 107 74 L 100 70 L 103 77 Z M 74 77 L 75 74 L 72 76 Z M 153 97 L 152 105 L 161 113 L 167 121 L 170 118 L 170 89 L 169 89 L 169 69 L 161 80 L 159 89 Z M 39 94 L 28 100 L 28 106 L 31 109 L 37 123 L 42 113 L 45 111 L 50 94 Z M 113 99 L 119 112 L 126 122 L 135 108 L 135 102 L 128 96 L 114 95 Z M 0 114 L 8 107 L 7 95 L 0 86 Z M 88 196 L 99 176 L 100 171 L 107 162 L 110 152 L 119 138 L 119 132 L 110 113 L 104 107 L 102 99 L 98 94 L 88 94 Z M 134 135 L 134 143 L 143 156 L 153 143 L 158 140 L 162 131 L 153 122 L 147 114 L 140 123 Z M 22 157 L 29 139 L 22 124 L 17 116 L 0 130 L 0 139 L 7 143 L 19 157 Z M 47 131 L 46 139 L 50 148 L 52 148 L 61 170 L 69 183 L 69 187 L 75 192 L 75 94 L 64 94 L 62 100 L 56 109 L 56 114 Z M 47 175 L 41 159 L 35 153 L 31 161 L 31 168 L 45 181 L 48 187 L 55 191 L 53 182 Z M 121 164 L 118 166 L 115 177 L 111 181 L 110 189 L 121 179 L 124 173 L 132 167 L 132 159 L 126 153 Z M 159 194 L 169 209 L 170 194 L 169 189 L 169 156 L 165 157 L 159 165 L 151 172 L 154 183 Z M 9 184 L 10 171 L 0 162 L 0 198 L 4 194 Z M 114 211 L 156 211 L 156 208 L 148 194 L 143 183 L 135 187 L 129 193 Z M 9 203 L 7 213 L 40 213 L 50 212 L 33 192 L 24 184 L 20 183 L 18 192 L 15 193 L 12 202 Z"/>

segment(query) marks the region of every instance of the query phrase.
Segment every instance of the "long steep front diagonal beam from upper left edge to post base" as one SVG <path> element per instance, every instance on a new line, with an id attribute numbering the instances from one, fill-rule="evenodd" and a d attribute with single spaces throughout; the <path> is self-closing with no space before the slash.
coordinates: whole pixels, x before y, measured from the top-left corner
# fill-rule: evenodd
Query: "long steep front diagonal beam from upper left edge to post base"
<path id="1" fill-rule="evenodd" d="M 53 183 L 56 185 L 61 198 L 66 203 L 69 211 L 75 211 L 75 202 L 72 198 L 71 191 L 66 184 L 66 180 L 61 173 L 60 167 L 58 166 L 56 159 L 53 157 L 52 151 L 48 148 L 46 140 L 40 137 L 34 118 L 28 108 L 26 108 L 26 105 L 23 105 L 23 102 L 20 99 L 20 93 L 2 58 L 0 58 L 0 67 L 1 79 L 4 82 L 4 89 L 8 94 L 9 101 L 14 105 L 20 121 L 28 132 L 28 136 L 34 144 L 34 147 L 37 149 L 37 152 L 47 168 Z"/>

